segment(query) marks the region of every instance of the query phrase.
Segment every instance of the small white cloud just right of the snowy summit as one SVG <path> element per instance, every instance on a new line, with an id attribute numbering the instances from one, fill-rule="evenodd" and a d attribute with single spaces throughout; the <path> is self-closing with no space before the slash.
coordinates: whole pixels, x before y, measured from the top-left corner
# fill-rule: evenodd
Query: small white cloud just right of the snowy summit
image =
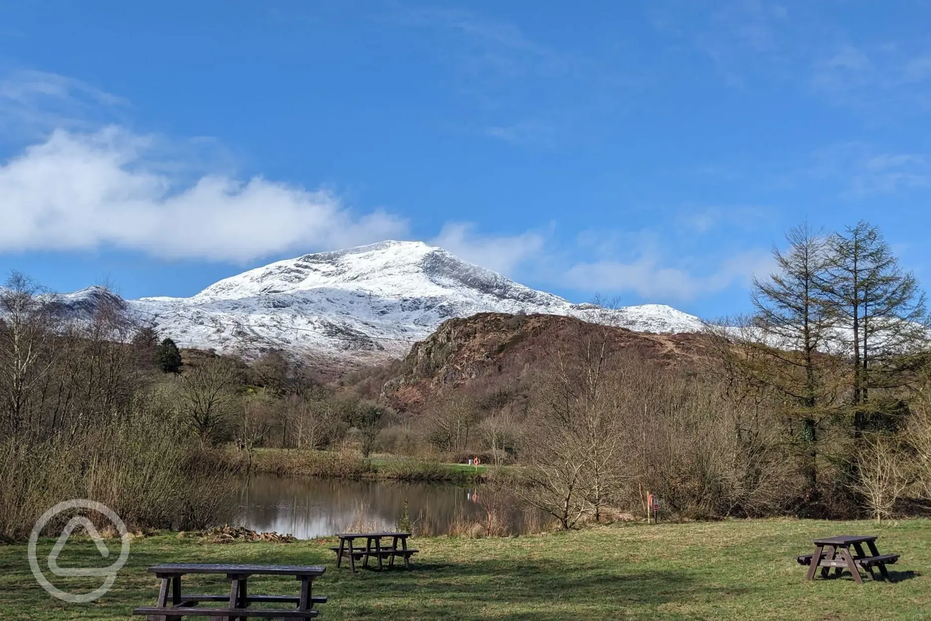
<path id="1" fill-rule="evenodd" d="M 544 237 L 530 231 L 519 236 L 479 236 L 471 223 L 446 223 L 432 243 L 469 263 L 512 275 L 543 250 Z"/>

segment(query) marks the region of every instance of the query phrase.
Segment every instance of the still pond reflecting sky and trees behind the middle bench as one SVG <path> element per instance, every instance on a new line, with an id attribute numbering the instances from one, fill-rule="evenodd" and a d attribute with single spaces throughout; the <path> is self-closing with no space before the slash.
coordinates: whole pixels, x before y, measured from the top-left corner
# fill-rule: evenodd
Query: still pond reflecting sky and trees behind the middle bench
<path id="1" fill-rule="evenodd" d="M 507 533 L 539 531 L 546 522 L 537 511 L 525 510 L 500 493 L 492 505 L 481 486 L 440 483 L 253 475 L 243 481 L 234 500 L 236 524 L 299 539 L 394 530 L 405 502 L 412 529 L 419 534 L 462 532 L 487 523 L 490 510 Z"/>

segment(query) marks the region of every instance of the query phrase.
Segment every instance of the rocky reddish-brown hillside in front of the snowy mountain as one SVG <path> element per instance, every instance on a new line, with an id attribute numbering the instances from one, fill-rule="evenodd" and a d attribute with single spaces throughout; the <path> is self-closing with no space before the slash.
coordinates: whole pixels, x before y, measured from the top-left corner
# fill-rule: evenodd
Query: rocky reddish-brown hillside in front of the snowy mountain
<path id="1" fill-rule="evenodd" d="M 546 352 L 569 344 L 585 322 L 555 315 L 479 313 L 444 322 L 412 346 L 385 382 L 383 397 L 399 410 L 418 411 L 441 389 L 467 392 L 490 407 L 514 404 L 526 395 L 532 371 Z M 619 351 L 663 364 L 691 364 L 707 341 L 700 334 L 652 334 L 610 328 Z"/>

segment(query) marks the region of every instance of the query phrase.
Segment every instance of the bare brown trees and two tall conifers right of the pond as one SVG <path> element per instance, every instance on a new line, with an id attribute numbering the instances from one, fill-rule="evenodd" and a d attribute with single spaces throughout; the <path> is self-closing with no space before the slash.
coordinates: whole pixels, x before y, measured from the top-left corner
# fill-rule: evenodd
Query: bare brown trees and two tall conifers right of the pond
<path id="1" fill-rule="evenodd" d="M 564 527 L 603 507 L 877 520 L 931 499 L 924 292 L 880 230 L 807 224 L 708 325 L 695 369 L 611 351 L 603 326 L 549 352 L 527 425 L 528 502 Z"/>

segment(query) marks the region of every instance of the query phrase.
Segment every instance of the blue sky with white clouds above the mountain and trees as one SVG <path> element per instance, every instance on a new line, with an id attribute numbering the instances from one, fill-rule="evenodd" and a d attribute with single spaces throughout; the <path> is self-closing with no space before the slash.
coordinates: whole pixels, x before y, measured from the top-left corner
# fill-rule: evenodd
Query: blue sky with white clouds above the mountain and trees
<path id="1" fill-rule="evenodd" d="M 718 317 L 786 228 L 863 218 L 926 282 L 928 23 L 917 0 L 0 0 L 0 272 L 191 295 L 422 239 Z"/>

